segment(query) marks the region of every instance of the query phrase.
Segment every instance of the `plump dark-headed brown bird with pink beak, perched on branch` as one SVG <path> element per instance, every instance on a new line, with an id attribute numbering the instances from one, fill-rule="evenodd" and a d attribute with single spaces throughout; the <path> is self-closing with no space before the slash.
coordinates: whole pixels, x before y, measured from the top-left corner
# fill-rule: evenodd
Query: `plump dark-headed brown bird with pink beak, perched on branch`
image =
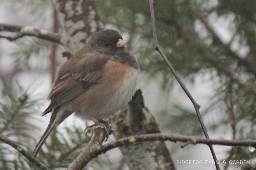
<path id="1" fill-rule="evenodd" d="M 42 113 L 52 115 L 32 153 L 34 158 L 50 132 L 69 115 L 101 124 L 128 104 L 136 90 L 139 66 L 124 47 L 127 43 L 116 30 L 101 30 L 60 67 L 48 96 L 50 104 Z"/>

